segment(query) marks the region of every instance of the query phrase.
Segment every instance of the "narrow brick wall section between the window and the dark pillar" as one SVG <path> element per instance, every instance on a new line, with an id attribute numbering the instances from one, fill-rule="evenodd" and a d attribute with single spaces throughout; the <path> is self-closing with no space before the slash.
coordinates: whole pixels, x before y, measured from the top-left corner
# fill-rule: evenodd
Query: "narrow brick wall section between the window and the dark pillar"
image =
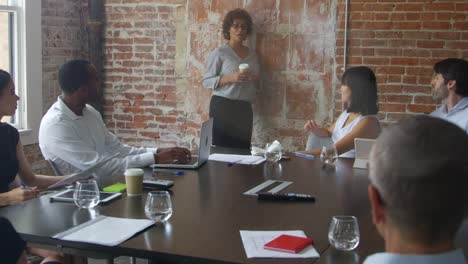
<path id="1" fill-rule="evenodd" d="M 83 0 L 84 3 L 87 0 Z M 86 31 L 83 4 L 76 0 L 42 0 L 42 100 L 43 112 L 57 100 L 59 66 L 72 58 L 85 58 Z M 41 154 L 39 145 L 24 148 L 36 173 L 53 173 Z"/>

